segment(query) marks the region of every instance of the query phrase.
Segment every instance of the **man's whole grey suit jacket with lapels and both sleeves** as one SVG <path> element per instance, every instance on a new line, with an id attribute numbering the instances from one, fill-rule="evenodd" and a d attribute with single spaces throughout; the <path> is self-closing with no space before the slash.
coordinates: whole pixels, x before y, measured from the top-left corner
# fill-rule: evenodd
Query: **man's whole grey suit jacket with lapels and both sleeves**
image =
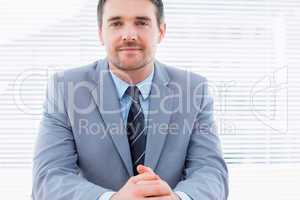
<path id="1" fill-rule="evenodd" d="M 228 172 L 205 78 L 155 62 L 145 165 L 194 200 L 224 200 Z M 106 59 L 55 74 L 33 160 L 35 200 L 96 200 L 133 176 Z"/>

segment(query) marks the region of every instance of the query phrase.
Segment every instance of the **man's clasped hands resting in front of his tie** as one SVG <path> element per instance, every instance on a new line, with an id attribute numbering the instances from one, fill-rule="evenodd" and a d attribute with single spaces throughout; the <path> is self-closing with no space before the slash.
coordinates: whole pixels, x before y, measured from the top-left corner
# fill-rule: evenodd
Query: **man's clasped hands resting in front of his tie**
<path id="1" fill-rule="evenodd" d="M 111 200 L 180 200 L 151 168 L 139 165 L 137 171 L 139 174 L 129 178 Z"/>

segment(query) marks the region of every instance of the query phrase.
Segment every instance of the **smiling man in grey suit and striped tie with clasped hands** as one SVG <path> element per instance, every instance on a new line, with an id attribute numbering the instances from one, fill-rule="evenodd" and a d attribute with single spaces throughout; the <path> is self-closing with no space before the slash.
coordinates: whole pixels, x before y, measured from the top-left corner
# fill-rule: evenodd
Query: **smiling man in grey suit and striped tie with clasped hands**
<path id="1" fill-rule="evenodd" d="M 205 78 L 155 60 L 161 0 L 100 0 L 107 58 L 49 82 L 35 200 L 224 200 L 228 174 Z"/>

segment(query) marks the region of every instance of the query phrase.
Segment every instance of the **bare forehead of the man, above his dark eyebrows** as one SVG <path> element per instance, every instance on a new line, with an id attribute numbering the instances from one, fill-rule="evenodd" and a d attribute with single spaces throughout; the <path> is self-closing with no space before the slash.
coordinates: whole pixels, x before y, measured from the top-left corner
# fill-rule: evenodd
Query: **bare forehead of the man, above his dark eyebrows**
<path id="1" fill-rule="evenodd" d="M 107 0 L 103 7 L 103 20 L 112 17 L 136 18 L 145 16 L 154 19 L 155 6 L 150 0 Z"/>

